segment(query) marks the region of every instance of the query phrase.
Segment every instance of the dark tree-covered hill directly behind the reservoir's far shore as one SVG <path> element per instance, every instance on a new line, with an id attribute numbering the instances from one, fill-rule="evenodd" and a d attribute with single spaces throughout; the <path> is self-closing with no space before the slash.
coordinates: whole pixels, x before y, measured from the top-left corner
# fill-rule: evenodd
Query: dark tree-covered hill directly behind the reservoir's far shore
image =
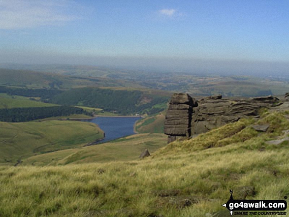
<path id="1" fill-rule="evenodd" d="M 113 90 L 99 88 L 77 88 L 57 94 L 49 102 L 101 108 L 122 115 L 136 113 L 155 114 L 166 107 L 169 96 L 136 90 Z"/>

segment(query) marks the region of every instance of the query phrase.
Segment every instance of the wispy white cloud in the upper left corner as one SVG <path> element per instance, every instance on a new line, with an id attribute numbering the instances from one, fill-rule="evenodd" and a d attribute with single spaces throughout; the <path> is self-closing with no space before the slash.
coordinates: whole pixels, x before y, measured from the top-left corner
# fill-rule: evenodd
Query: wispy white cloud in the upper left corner
<path id="1" fill-rule="evenodd" d="M 69 0 L 0 0 L 0 29 L 60 25 L 79 19 Z"/>

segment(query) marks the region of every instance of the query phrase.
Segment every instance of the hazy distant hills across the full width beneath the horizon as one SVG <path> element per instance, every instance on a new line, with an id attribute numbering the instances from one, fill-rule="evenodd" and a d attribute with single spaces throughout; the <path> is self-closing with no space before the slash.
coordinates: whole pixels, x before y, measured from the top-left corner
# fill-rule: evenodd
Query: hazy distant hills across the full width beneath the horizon
<path id="1" fill-rule="evenodd" d="M 2 65 L 2 66 L 1 66 Z M 50 78 L 45 85 L 53 81 L 61 81 L 62 88 L 76 87 L 126 87 L 146 88 L 171 92 L 190 93 L 192 96 L 207 96 L 222 94 L 224 96 L 260 96 L 279 95 L 288 91 L 289 80 L 278 76 L 223 76 L 194 74 L 195 72 L 130 70 L 126 68 L 105 68 L 88 65 L 29 65 L 29 64 L 0 64 L 1 67 L 14 69 L 29 69 L 41 71 Z M 8 70 L 8 69 L 6 69 Z M 0 70 L 1 75 L 1 70 Z M 54 80 L 51 78 L 53 76 Z M 37 78 L 37 76 L 36 76 Z M 43 80 L 42 78 L 39 78 Z M 38 79 L 38 80 L 39 80 Z M 26 78 L 24 78 L 26 81 Z M 29 81 L 29 80 L 28 80 Z M 28 82 L 27 81 L 27 82 Z M 13 83 L 9 77 L 6 83 Z M 27 85 L 26 82 L 26 85 Z M 21 80 L 19 79 L 19 82 Z M 28 83 L 29 84 L 29 83 Z M 39 83 L 40 84 L 40 83 Z M 59 83 L 55 83 L 57 87 Z M 1 82 L 0 82 L 1 85 Z M 42 86 L 45 86 L 42 85 Z"/>

